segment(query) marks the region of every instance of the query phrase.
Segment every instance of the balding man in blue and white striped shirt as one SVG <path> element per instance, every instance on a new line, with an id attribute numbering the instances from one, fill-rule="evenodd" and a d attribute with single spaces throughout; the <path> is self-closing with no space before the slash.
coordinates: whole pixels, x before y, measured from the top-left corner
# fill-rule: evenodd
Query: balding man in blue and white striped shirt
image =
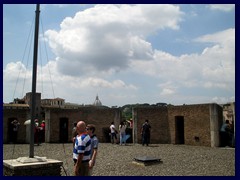
<path id="1" fill-rule="evenodd" d="M 73 148 L 75 176 L 89 176 L 89 160 L 91 158 L 91 138 L 86 132 L 84 121 L 77 123 L 77 138 Z"/>

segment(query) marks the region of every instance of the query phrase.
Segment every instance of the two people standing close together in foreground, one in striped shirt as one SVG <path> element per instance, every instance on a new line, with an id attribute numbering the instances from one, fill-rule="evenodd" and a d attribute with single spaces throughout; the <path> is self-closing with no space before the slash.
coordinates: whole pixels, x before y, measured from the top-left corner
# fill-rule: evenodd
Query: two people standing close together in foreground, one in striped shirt
<path id="1" fill-rule="evenodd" d="M 72 132 L 73 163 L 75 176 L 91 176 L 98 149 L 98 138 L 93 124 L 84 121 L 74 123 Z"/>

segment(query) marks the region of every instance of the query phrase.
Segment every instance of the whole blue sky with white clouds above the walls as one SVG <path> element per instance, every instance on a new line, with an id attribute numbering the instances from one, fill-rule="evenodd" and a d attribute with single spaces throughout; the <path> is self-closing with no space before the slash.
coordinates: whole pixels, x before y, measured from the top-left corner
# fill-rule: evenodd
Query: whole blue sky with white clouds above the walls
<path id="1" fill-rule="evenodd" d="M 3 5 L 4 102 L 31 91 L 35 6 Z M 235 101 L 235 5 L 40 9 L 42 98 L 92 104 L 98 94 L 107 106 Z"/>

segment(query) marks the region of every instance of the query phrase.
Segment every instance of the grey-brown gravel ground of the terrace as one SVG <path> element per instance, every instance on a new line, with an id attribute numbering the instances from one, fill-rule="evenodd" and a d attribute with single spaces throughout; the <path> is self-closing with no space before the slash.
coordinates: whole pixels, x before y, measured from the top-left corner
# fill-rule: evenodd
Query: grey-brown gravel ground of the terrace
<path id="1" fill-rule="evenodd" d="M 34 155 L 62 161 L 62 175 L 73 176 L 71 143 L 35 145 Z M 4 160 L 28 156 L 29 144 L 3 145 Z M 144 166 L 134 161 L 140 156 L 155 157 L 161 163 Z M 235 176 L 235 148 L 99 143 L 93 176 Z"/>

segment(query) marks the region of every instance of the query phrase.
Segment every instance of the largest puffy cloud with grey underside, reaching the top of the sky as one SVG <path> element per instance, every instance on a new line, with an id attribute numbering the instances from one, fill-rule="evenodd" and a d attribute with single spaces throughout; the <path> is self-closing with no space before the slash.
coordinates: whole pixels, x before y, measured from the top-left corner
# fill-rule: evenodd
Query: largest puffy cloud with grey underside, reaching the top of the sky
<path id="1" fill-rule="evenodd" d="M 146 36 L 177 29 L 182 14 L 174 5 L 96 5 L 65 18 L 61 30 L 48 30 L 46 37 L 61 73 L 94 76 L 126 69 L 133 58 L 151 58 Z"/>

